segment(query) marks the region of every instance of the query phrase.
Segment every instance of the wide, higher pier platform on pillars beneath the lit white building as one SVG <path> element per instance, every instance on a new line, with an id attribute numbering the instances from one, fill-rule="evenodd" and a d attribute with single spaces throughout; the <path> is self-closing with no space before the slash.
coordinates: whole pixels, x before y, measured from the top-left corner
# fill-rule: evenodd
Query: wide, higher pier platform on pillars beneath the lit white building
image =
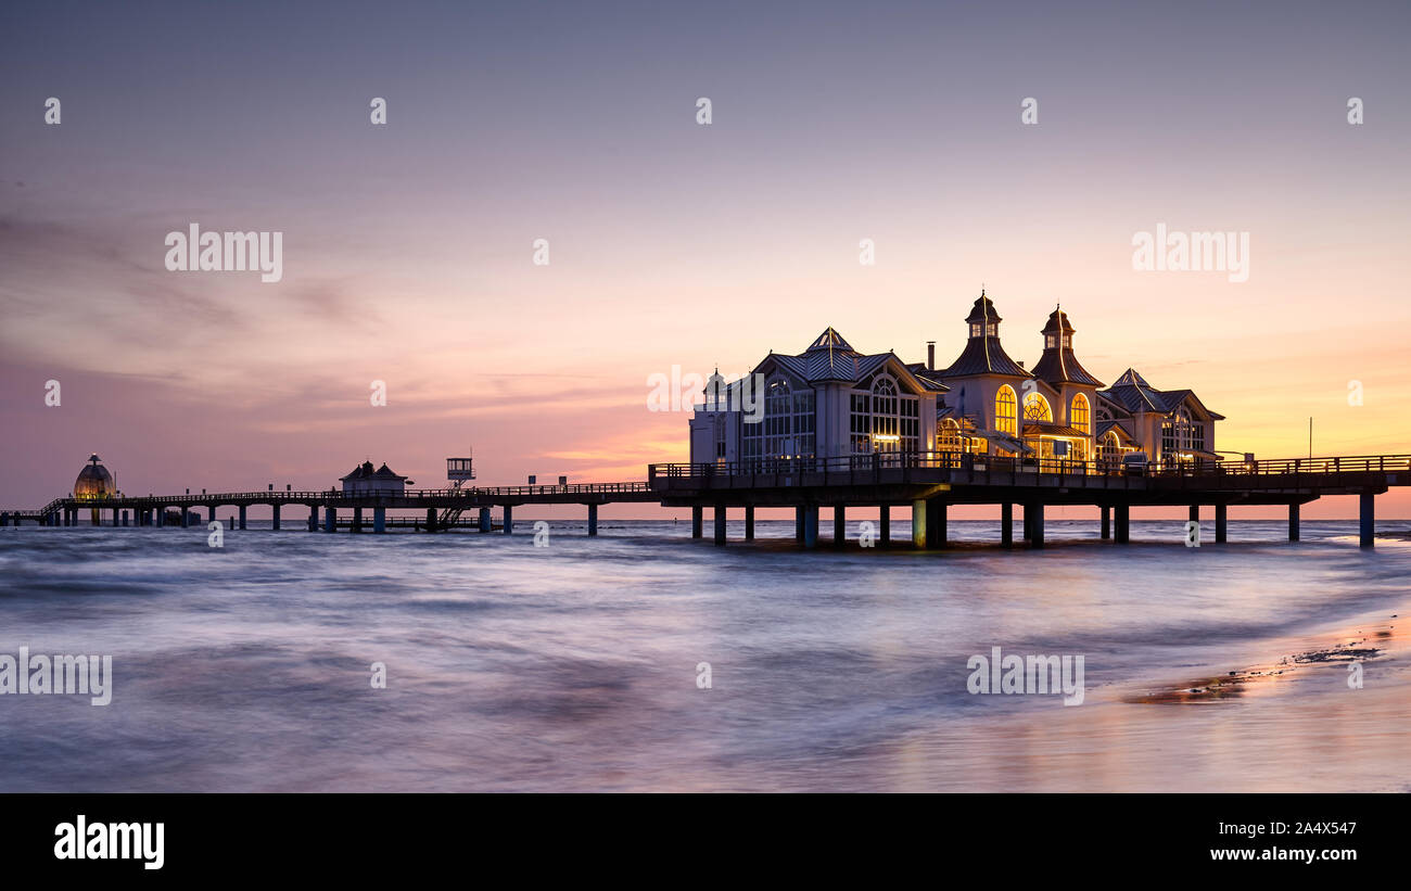
<path id="1" fill-rule="evenodd" d="M 1374 498 L 1390 486 L 1411 485 L 1411 455 L 1356 455 L 1182 464 L 1129 472 L 1098 461 L 1002 458 L 965 453 L 876 453 L 840 458 L 792 458 L 738 464 L 653 464 L 648 468 L 662 505 L 691 509 L 691 536 L 703 537 L 711 509 L 715 544 L 725 544 L 729 509 L 745 515 L 753 539 L 758 508 L 793 508 L 796 539 L 818 546 L 818 512 L 832 512 L 832 544 L 841 547 L 849 510 L 876 517 L 879 547 L 890 544 L 892 509 L 910 508 L 912 543 L 941 548 L 951 505 L 998 505 L 1000 544 L 1013 546 L 1015 506 L 1023 509 L 1023 540 L 1044 546 L 1044 508 L 1091 505 L 1099 509 L 1102 539 L 1130 541 L 1133 508 L 1185 506 L 1199 520 L 1215 513 L 1215 541 L 1229 534 L 1229 508 L 1280 505 L 1288 509 L 1288 539 L 1298 540 L 1300 508 L 1324 495 L 1359 496 L 1359 544 L 1371 547 Z M 862 515 L 859 515 L 862 516 Z"/>

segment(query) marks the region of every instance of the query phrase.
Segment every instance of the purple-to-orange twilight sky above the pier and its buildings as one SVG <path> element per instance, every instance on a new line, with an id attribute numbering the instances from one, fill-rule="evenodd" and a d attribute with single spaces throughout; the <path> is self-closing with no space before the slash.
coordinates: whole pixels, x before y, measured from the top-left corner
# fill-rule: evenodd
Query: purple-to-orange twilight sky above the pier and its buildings
<path id="1" fill-rule="evenodd" d="M 1215 448 L 1301 457 L 1312 417 L 1316 455 L 1411 453 L 1408 25 L 1405 3 L 6 3 L 0 503 L 66 493 L 93 451 L 127 492 L 322 489 L 364 460 L 433 488 L 468 450 L 483 485 L 642 479 L 689 457 L 650 375 L 741 374 L 827 326 L 948 364 L 982 285 L 1012 357 L 1061 303 L 1099 379 L 1225 414 Z M 192 223 L 282 233 L 281 281 L 168 271 Z M 1133 269 L 1158 224 L 1247 233 L 1247 281 Z"/>

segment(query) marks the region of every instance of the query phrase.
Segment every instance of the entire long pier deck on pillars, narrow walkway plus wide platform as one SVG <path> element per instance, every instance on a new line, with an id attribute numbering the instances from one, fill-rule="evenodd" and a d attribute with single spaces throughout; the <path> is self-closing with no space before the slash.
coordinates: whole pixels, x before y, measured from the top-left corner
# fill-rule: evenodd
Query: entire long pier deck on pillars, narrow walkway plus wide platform
<path id="1" fill-rule="evenodd" d="M 491 510 L 499 512 L 499 531 L 514 533 L 514 509 L 531 505 L 583 505 L 587 534 L 597 534 L 598 508 L 639 502 L 691 509 L 691 537 L 704 537 L 704 512 L 711 510 L 713 539 L 727 543 L 725 519 L 742 510 L 745 540 L 755 537 L 755 510 L 792 508 L 796 539 L 818 547 L 821 509 L 832 512 L 832 546 L 845 541 L 849 512 L 876 519 L 879 547 L 892 544 L 890 517 L 896 508 L 910 509 L 912 543 L 919 548 L 947 544 L 947 513 L 952 505 L 996 505 L 1000 509 L 1000 544 L 1013 547 L 1015 506 L 1023 510 L 1022 541 L 1044 546 L 1044 509 L 1054 505 L 1089 505 L 1099 509 L 1101 537 L 1118 544 L 1130 541 L 1133 508 L 1184 506 L 1199 520 L 1209 509 L 1215 543 L 1228 540 L 1232 506 L 1284 506 L 1288 539 L 1300 537 L 1300 508 L 1325 495 L 1359 498 L 1359 543 L 1371 547 L 1376 533 L 1374 499 L 1391 486 L 1411 485 L 1411 455 L 1352 455 L 1229 461 L 1130 472 L 1096 461 L 1002 458 L 967 453 L 878 453 L 838 458 L 780 458 L 752 462 L 652 464 L 646 481 L 574 485 L 466 486 L 408 489 L 396 495 L 350 495 L 337 491 L 202 492 L 164 496 L 117 495 L 103 499 L 56 498 L 37 510 L 0 510 L 0 526 L 34 522 L 42 526 L 190 526 L 233 520 L 246 529 L 247 510 L 265 506 L 272 527 L 308 531 L 385 533 L 391 527 L 420 531 L 494 529 Z M 166 523 L 166 512 L 179 520 Z M 230 510 L 234 510 L 231 515 Z M 388 510 L 412 510 L 412 517 L 388 517 Z M 474 520 L 460 520 L 471 510 Z M 223 513 L 224 512 L 224 513 Z"/>

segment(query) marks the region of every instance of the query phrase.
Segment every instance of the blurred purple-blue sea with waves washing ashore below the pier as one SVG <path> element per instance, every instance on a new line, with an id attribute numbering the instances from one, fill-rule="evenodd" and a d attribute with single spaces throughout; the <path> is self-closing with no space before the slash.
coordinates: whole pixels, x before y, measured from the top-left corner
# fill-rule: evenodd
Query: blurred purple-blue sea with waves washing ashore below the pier
<path id="1" fill-rule="evenodd" d="M 1411 522 L 859 529 L 4 527 L 0 791 L 1411 791 Z"/>

